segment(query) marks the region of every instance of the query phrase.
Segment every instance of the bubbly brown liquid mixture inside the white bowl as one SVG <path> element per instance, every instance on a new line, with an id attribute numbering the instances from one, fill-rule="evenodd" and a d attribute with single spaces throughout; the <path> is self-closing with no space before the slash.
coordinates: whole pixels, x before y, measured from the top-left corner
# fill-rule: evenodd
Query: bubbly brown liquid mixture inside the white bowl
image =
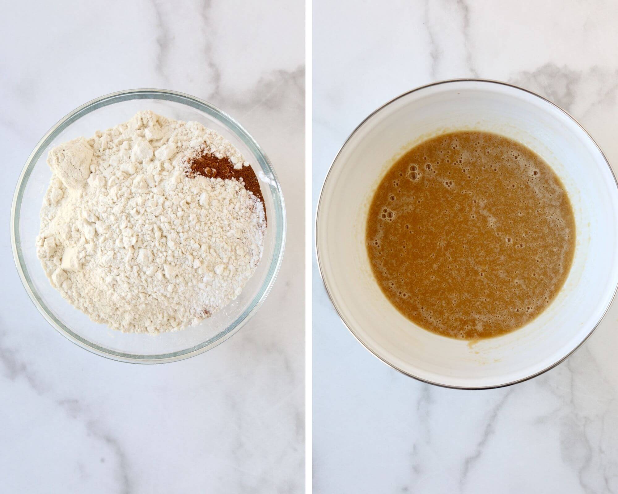
<path id="1" fill-rule="evenodd" d="M 387 172 L 366 244 L 379 286 L 404 316 L 473 340 L 518 329 L 548 306 L 569 274 L 575 218 L 533 151 L 454 132 L 418 144 Z"/>

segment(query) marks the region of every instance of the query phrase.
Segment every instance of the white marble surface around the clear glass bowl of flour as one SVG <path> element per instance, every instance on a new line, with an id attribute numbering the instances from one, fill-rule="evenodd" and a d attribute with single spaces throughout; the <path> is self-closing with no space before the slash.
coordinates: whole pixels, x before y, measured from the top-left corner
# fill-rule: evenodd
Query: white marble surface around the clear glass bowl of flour
<path id="1" fill-rule="evenodd" d="M 0 490 L 303 492 L 302 2 L 9 2 L 0 44 Z M 258 314 L 214 350 L 161 366 L 59 335 L 23 290 L 9 240 L 15 183 L 43 133 L 137 87 L 194 94 L 238 119 L 273 161 L 288 212 L 284 263 Z"/>

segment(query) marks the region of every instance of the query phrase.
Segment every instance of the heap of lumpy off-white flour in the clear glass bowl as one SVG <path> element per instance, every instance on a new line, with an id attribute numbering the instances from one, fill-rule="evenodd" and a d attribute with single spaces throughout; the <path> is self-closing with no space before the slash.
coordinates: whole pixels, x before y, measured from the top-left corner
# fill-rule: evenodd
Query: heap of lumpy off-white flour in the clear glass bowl
<path id="1" fill-rule="evenodd" d="M 248 166 L 213 130 L 151 111 L 49 152 L 36 253 L 64 298 L 95 322 L 156 333 L 240 294 L 262 255 L 264 207 L 237 180 L 189 178 L 202 153 Z"/>

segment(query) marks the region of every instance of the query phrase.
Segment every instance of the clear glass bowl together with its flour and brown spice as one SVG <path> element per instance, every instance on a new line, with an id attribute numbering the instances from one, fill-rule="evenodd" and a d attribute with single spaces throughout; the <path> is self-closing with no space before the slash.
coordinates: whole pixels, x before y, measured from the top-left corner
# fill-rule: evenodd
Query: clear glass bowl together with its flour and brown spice
<path id="1" fill-rule="evenodd" d="M 127 362 L 209 350 L 263 303 L 286 216 L 266 154 L 211 104 L 166 90 L 101 96 L 28 157 L 15 264 L 43 317 Z"/>

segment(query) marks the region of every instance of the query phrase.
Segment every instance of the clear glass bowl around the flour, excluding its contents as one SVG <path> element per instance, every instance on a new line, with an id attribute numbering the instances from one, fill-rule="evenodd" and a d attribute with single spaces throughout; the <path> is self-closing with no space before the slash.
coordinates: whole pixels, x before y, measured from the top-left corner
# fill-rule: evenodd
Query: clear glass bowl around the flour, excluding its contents
<path id="1" fill-rule="evenodd" d="M 261 182 L 268 227 L 264 253 L 242 293 L 200 325 L 156 336 L 121 333 L 92 322 L 62 298 L 45 276 L 36 257 L 43 195 L 51 169 L 49 149 L 78 136 L 129 120 L 140 110 L 152 110 L 177 120 L 194 120 L 221 133 L 270 183 Z M 11 242 L 15 265 L 36 308 L 54 328 L 77 345 L 98 355 L 124 362 L 160 363 L 185 359 L 210 350 L 237 332 L 260 308 L 273 286 L 283 257 L 286 211 L 273 166 L 247 131 L 218 108 L 187 94 L 166 90 L 128 90 L 107 94 L 70 112 L 36 145 L 19 177 L 11 211 Z"/>

